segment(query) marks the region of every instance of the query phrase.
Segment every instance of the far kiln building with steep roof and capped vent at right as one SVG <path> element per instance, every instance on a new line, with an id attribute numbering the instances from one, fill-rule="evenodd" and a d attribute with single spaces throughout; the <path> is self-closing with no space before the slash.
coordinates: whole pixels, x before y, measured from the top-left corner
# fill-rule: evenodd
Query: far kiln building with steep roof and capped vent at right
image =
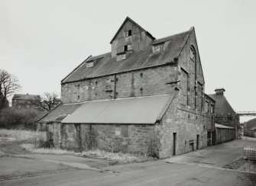
<path id="1" fill-rule="evenodd" d="M 225 89 L 215 89 L 215 94 L 209 95 L 215 100 L 215 144 L 238 139 L 239 116 L 224 96 Z"/>

